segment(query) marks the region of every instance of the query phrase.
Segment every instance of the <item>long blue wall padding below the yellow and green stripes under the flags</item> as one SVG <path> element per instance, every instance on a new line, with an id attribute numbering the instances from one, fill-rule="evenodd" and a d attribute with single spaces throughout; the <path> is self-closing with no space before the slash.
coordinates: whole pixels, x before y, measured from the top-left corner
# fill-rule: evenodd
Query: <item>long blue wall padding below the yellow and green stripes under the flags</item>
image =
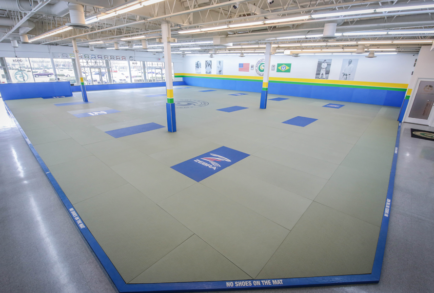
<path id="1" fill-rule="evenodd" d="M 262 90 L 262 81 L 220 80 L 190 76 L 184 76 L 183 79 L 187 85 L 257 93 Z M 273 82 L 268 84 L 268 94 L 394 107 L 400 107 L 405 97 L 405 91 Z"/>

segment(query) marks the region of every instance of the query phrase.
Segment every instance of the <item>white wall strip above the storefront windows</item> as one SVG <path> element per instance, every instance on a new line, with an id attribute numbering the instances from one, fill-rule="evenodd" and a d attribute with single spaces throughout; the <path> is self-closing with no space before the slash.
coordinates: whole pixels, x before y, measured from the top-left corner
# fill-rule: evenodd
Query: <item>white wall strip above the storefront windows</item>
<path id="1" fill-rule="evenodd" d="M 15 50 L 14 50 L 15 49 Z M 28 57 L 28 58 L 50 58 L 52 53 L 68 53 L 72 54 L 72 46 L 52 46 L 52 45 L 35 45 L 35 44 L 20 44 L 18 48 L 13 48 L 9 43 L 0 43 L 0 57 Z M 95 49 L 89 50 L 87 47 L 79 47 L 79 54 L 95 54 L 95 55 L 115 55 L 115 56 L 134 56 L 136 61 L 154 61 L 164 62 L 160 59 L 164 54 L 157 53 L 153 55 L 149 52 L 138 52 L 131 50 L 107 50 Z M 180 54 L 172 54 L 172 62 L 174 63 L 175 73 L 183 72 L 183 58 Z M 181 78 L 175 78 L 175 81 L 182 81 Z"/>

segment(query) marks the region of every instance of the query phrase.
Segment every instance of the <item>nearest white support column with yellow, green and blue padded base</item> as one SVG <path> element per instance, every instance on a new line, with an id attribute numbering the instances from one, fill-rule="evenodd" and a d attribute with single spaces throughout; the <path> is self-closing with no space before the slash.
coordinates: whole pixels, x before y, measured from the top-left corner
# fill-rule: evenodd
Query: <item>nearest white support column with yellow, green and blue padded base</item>
<path id="1" fill-rule="evenodd" d="M 166 114 L 167 114 L 167 130 L 169 132 L 177 131 L 177 122 L 175 114 L 175 103 L 173 101 L 173 80 L 172 80 L 172 55 L 170 52 L 170 24 L 166 21 L 161 22 L 161 32 L 164 46 L 164 68 L 166 74 Z"/>

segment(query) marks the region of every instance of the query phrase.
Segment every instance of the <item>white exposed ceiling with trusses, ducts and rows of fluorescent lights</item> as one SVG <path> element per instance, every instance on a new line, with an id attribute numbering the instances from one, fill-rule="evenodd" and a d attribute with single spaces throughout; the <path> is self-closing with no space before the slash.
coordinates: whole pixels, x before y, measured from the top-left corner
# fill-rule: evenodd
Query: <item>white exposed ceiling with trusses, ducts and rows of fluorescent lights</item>
<path id="1" fill-rule="evenodd" d="M 209 54 L 213 49 L 217 53 L 262 53 L 268 42 L 277 53 L 345 53 L 354 52 L 360 44 L 366 50 L 417 52 L 434 40 L 433 0 L 68 2 L 84 6 L 90 29 L 66 26 L 72 21 L 65 1 L 0 0 L 1 42 L 20 40 L 20 35 L 27 34 L 34 44 L 70 46 L 75 38 L 79 46 L 114 48 L 118 42 L 121 49 L 140 51 L 141 40 L 147 40 L 149 51 L 162 50 L 156 42 L 162 21 L 171 24 L 172 37 L 178 41 L 172 43 L 175 53 Z M 330 40 L 321 39 L 326 23 L 336 24 Z"/>

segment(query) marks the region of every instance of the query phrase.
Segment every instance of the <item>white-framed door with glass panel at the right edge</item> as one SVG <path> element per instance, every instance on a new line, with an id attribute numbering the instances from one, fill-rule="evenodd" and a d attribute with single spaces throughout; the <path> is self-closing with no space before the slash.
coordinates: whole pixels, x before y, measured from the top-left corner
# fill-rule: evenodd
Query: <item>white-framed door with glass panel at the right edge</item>
<path id="1" fill-rule="evenodd" d="M 419 79 L 410 97 L 405 122 L 433 126 L 434 79 Z"/>

